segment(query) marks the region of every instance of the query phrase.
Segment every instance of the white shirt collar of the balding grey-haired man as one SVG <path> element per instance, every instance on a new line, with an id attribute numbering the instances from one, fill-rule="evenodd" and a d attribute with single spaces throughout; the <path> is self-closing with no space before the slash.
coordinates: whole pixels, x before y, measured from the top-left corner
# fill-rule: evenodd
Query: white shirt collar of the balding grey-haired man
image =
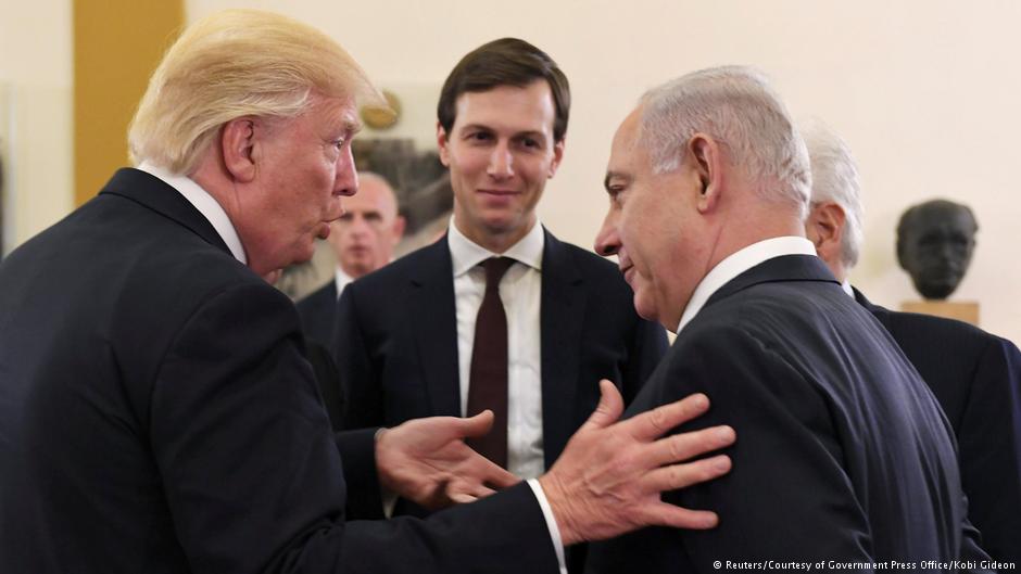
<path id="1" fill-rule="evenodd" d="M 753 243 L 747 247 L 730 254 L 722 262 L 716 264 L 695 292 L 692 293 L 684 312 L 681 315 L 681 322 L 677 326 L 677 332 L 680 333 L 684 326 L 691 322 L 705 306 L 706 302 L 714 293 L 726 285 L 731 279 L 747 271 L 756 265 L 781 255 L 816 255 L 816 246 L 805 238 L 782 237 L 770 238 Z"/>

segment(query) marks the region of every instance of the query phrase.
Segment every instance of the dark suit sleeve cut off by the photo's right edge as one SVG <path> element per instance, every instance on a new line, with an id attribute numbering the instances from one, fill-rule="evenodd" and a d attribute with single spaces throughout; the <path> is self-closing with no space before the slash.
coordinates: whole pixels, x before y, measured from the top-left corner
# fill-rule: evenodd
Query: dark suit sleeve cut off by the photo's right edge
<path id="1" fill-rule="evenodd" d="M 958 431 L 968 515 L 994 560 L 1021 563 L 1021 353 L 993 339 Z"/>

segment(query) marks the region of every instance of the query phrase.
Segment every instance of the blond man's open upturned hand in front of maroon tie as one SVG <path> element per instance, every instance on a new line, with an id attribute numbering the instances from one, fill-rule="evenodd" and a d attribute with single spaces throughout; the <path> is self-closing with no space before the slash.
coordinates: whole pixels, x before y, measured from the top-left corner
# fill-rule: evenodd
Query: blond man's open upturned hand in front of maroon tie
<path id="1" fill-rule="evenodd" d="M 380 483 L 430 510 L 470 502 L 514 485 L 517 476 L 464 442 L 484 435 L 492 424 L 493 413 L 486 410 L 467 419 L 415 419 L 381 431 L 376 438 Z"/>

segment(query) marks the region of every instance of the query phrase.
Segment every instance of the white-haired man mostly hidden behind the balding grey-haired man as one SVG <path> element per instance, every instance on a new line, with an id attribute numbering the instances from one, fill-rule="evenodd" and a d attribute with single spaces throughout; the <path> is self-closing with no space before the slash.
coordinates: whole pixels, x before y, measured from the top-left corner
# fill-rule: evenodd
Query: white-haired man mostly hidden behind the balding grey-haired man
<path id="1" fill-rule="evenodd" d="M 811 160 L 805 232 L 844 290 L 890 331 L 932 390 L 957 436 L 968 518 L 994 560 L 1021 563 L 1021 353 L 970 324 L 873 305 L 850 286 L 862 232 L 858 168 L 821 123 L 804 131 Z"/>

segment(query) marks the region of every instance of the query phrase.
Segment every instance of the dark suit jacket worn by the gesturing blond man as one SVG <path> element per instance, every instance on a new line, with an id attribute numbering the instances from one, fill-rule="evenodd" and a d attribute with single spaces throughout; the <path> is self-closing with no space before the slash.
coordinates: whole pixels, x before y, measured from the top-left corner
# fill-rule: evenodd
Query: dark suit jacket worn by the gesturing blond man
<path id="1" fill-rule="evenodd" d="M 190 203 L 118 171 L 0 265 L 0 572 L 555 572 L 527 485 L 345 523 L 371 433 L 345 474 L 303 346 Z"/>

